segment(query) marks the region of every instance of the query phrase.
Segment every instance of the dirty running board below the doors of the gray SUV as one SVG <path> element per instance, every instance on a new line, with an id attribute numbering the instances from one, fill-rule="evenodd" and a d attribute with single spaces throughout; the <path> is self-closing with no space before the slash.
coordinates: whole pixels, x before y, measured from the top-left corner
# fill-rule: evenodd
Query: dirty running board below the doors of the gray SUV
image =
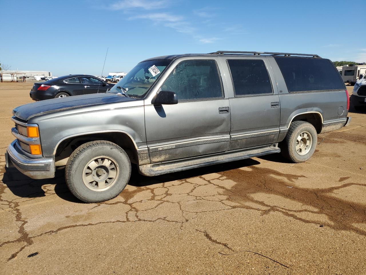
<path id="1" fill-rule="evenodd" d="M 255 148 L 250 150 L 229 151 L 215 155 L 209 155 L 201 158 L 181 159 L 179 161 L 160 162 L 154 164 L 146 164 L 138 166 L 139 173 L 144 176 L 158 176 L 172 172 L 178 172 L 208 165 L 220 164 L 229 161 L 237 161 L 240 159 L 253 158 L 261 155 L 280 153 L 278 144 L 271 146 Z"/>

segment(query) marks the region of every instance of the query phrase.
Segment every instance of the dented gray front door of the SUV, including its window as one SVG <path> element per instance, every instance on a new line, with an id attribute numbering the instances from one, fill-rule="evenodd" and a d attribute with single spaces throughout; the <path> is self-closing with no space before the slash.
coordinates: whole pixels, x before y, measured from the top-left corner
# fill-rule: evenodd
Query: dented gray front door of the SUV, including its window
<path id="1" fill-rule="evenodd" d="M 184 60 L 161 90 L 177 94 L 178 104 L 145 105 L 147 147 L 151 162 L 227 151 L 230 108 L 213 59 Z"/>

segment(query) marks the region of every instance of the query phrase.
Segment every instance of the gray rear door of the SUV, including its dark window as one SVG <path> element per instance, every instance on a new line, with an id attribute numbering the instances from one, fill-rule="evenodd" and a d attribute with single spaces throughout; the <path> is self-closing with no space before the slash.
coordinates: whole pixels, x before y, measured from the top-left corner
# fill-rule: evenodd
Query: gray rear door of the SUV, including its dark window
<path id="1" fill-rule="evenodd" d="M 266 57 L 226 58 L 234 96 L 230 150 L 275 143 L 279 136 L 280 100 Z"/>

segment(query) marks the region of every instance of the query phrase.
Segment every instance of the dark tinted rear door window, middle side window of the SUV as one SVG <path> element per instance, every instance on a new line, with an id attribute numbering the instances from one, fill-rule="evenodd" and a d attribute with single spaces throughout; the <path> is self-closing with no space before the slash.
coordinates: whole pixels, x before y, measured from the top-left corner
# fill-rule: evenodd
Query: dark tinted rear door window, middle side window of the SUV
<path id="1" fill-rule="evenodd" d="M 263 60 L 227 60 L 235 95 L 272 94 L 272 84 Z"/>

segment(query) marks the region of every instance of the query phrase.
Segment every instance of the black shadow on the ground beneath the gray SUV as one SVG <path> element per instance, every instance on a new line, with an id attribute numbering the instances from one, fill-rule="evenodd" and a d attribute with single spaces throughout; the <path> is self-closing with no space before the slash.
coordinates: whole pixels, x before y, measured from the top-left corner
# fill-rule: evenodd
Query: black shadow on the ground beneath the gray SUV
<path id="1" fill-rule="evenodd" d="M 144 187 L 152 184 L 164 183 L 173 180 L 182 180 L 190 177 L 198 177 L 209 173 L 220 173 L 228 170 L 234 170 L 241 167 L 252 166 L 260 164 L 255 159 L 243 159 L 240 161 L 228 162 L 225 164 L 217 164 L 206 166 L 202 168 L 195 168 L 191 170 L 168 173 L 161 176 L 146 177 L 138 173 L 136 165 L 132 166 L 131 177 L 129 185 L 135 187 Z M 20 173 L 16 168 L 6 168 L 2 179 L 3 183 L 9 190 L 17 197 L 21 198 L 38 198 L 53 194 L 53 188 L 46 188 L 46 186 L 54 186 L 54 193 L 64 199 L 65 201 L 84 203 L 74 197 L 68 190 L 64 179 L 64 169 L 56 170 L 53 179 L 34 180 Z M 49 189 L 49 190 L 48 190 Z"/>

